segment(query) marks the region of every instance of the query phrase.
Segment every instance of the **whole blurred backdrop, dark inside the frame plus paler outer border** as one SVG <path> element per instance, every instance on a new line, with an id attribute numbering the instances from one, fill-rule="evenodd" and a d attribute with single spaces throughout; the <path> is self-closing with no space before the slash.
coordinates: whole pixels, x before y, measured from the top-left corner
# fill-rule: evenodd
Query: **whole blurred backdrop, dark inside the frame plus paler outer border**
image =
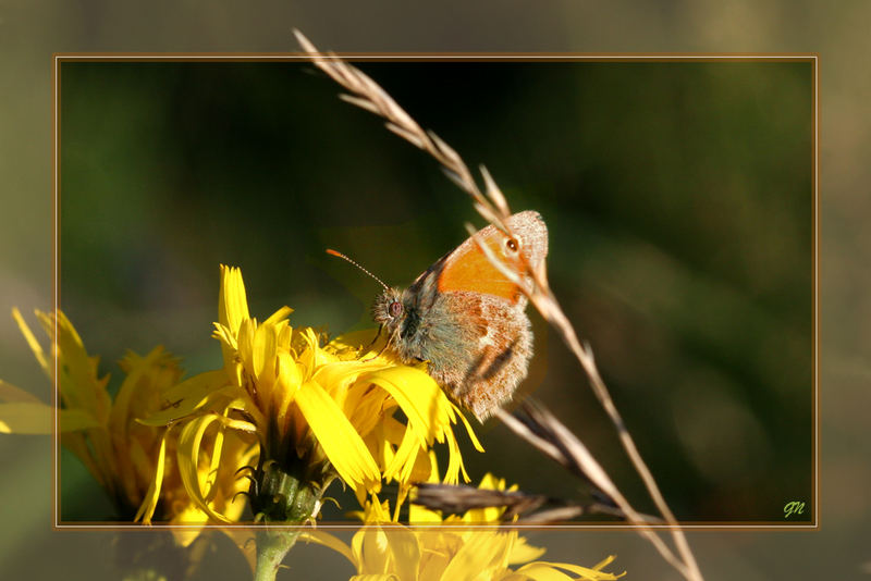
<path id="1" fill-rule="evenodd" d="M 349 51 L 819 51 L 823 526 L 704 532 L 690 542 L 710 579 L 861 576 L 871 560 L 862 541 L 871 478 L 861 452 L 869 304 L 860 268 L 869 78 L 850 59 L 867 52 L 852 23 L 868 9 L 678 4 L 605 12 L 554 3 L 522 18 L 528 9 L 519 4 L 481 3 L 461 20 L 447 18 L 446 5 L 416 14 L 356 8 L 338 20 L 302 5 L 244 15 L 59 5 L 48 22 L 10 4 L 4 22 L 21 26 L 4 37 L 12 50 L 2 57 L 3 301 L 25 310 L 51 304 L 52 51 L 285 51 L 291 26 Z M 196 34 L 187 30 L 194 22 Z M 155 343 L 183 356 L 191 372 L 213 366 L 218 262 L 243 267 L 255 312 L 289 304 L 296 322 L 340 332 L 360 324 L 377 288 L 323 247 L 403 284 L 475 220 L 433 162 L 338 101 L 310 67 L 75 66 L 63 78 L 71 125 L 61 158 L 61 304 L 107 371 L 118 374 L 124 348 Z M 682 519 L 773 520 L 784 497 L 809 495 L 807 64 L 363 66 L 467 162 L 486 163 L 516 210 L 542 212 L 553 285 Z M 559 341 L 537 329 L 527 388 L 560 410 L 643 508 L 584 379 Z M 0 337 L 3 379 L 48 398 L 11 320 Z M 484 428 L 483 437 L 476 477 L 495 470 L 527 489 L 577 492 L 501 428 Z M 14 499 L 3 503 L 2 570 L 33 568 L 52 551 L 59 556 L 30 574 L 90 578 L 107 535 L 50 532 L 48 443 L 0 445 L 10 459 L 4 497 Z M 64 499 L 71 518 L 100 510 L 86 480 L 73 491 Z M 631 533 L 538 532 L 532 542 L 552 560 L 590 564 L 616 553 L 630 573 L 675 574 Z M 781 553 L 792 557 L 774 558 Z M 244 574 L 232 552 L 219 555 L 226 561 L 214 569 L 219 578 Z M 351 574 L 323 556 L 300 551 L 291 564 L 308 579 Z"/>

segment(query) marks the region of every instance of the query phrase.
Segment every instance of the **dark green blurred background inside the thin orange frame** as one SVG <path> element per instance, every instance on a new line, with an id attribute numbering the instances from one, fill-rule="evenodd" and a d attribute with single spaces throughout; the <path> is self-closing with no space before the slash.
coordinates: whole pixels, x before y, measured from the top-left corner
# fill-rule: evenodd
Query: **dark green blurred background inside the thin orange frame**
<path id="1" fill-rule="evenodd" d="M 782 523 L 786 503 L 810 504 L 809 62 L 360 66 L 544 217 L 554 290 L 679 519 Z M 115 385 L 124 350 L 158 343 L 192 373 L 220 367 L 219 263 L 242 268 L 255 316 L 286 304 L 292 323 L 340 333 L 378 287 L 324 248 L 402 285 L 481 224 L 434 161 L 336 94 L 299 62 L 61 65 L 61 307 Z M 522 391 L 654 511 L 537 323 Z M 496 422 L 481 431 L 475 481 L 578 495 Z M 63 518 L 99 518 L 95 489 L 64 481 Z"/>

